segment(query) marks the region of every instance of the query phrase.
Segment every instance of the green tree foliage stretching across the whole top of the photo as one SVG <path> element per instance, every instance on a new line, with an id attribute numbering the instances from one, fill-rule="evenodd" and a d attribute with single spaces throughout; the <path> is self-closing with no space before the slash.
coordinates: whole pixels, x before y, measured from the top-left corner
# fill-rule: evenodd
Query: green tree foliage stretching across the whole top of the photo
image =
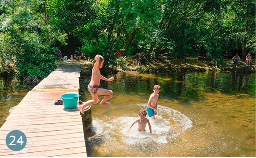
<path id="1" fill-rule="evenodd" d="M 87 57 L 101 54 L 106 66 L 116 64 L 116 51 L 147 60 L 160 54 L 244 58 L 255 52 L 255 10 L 253 0 L 2 0 L 1 70 L 7 72 L 12 56 L 23 62 L 46 55 L 43 66 L 52 67 L 50 54 L 65 45 L 72 50 L 72 41 Z M 37 61 L 28 65 L 32 71 L 23 64 L 16 64 L 21 76 L 49 73 L 34 73 L 43 71 Z"/>

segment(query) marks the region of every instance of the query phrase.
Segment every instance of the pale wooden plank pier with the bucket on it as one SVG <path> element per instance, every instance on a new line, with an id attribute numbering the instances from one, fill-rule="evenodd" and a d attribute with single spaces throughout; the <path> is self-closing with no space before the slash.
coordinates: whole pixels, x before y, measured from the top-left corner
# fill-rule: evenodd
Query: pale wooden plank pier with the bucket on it
<path id="1" fill-rule="evenodd" d="M 87 157 L 79 110 L 54 105 L 62 94 L 79 90 L 80 65 L 61 63 L 14 108 L 0 128 L 0 156 Z M 21 151 L 11 151 L 5 138 L 12 130 L 27 137 Z"/>

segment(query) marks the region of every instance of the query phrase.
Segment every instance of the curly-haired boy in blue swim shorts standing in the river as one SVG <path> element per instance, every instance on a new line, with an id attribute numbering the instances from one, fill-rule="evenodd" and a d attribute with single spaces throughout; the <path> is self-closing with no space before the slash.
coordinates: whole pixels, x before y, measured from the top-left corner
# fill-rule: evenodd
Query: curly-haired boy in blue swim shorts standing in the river
<path id="1" fill-rule="evenodd" d="M 154 93 L 150 95 L 148 100 L 147 111 L 148 111 L 148 117 L 155 119 L 155 115 L 157 115 L 157 100 L 159 97 L 158 93 L 160 92 L 160 86 L 155 85 L 153 91 Z"/>

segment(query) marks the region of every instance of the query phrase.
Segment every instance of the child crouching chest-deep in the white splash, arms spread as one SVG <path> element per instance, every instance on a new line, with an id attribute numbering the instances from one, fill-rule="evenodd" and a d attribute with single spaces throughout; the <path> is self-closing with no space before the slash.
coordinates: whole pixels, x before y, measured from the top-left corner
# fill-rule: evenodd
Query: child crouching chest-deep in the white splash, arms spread
<path id="1" fill-rule="evenodd" d="M 130 126 L 130 128 L 128 129 L 128 131 L 132 128 L 132 126 L 135 124 L 135 123 L 138 123 L 138 130 L 139 131 L 145 131 L 146 129 L 146 125 L 148 123 L 148 127 L 149 127 L 149 131 L 150 133 L 152 133 L 151 131 L 151 125 L 150 125 L 150 122 L 148 120 L 148 118 L 145 118 L 147 115 L 147 112 L 144 110 L 144 109 L 141 109 L 139 111 L 139 116 L 140 118 L 137 119 L 135 122 L 133 122 L 133 124 Z"/>

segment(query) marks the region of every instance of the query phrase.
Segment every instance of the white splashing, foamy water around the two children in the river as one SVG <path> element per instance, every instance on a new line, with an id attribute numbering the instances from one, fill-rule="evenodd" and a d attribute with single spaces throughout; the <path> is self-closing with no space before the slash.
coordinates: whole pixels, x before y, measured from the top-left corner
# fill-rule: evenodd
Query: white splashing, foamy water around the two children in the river
<path id="1" fill-rule="evenodd" d="M 147 104 L 131 104 L 130 106 L 145 109 Z M 101 139 L 101 141 L 104 140 L 101 142 L 103 144 L 115 145 L 115 151 L 129 148 L 130 152 L 133 153 L 134 146 L 146 146 L 143 150 L 148 150 L 152 144 L 172 144 L 172 141 L 175 141 L 188 128 L 192 127 L 192 121 L 179 111 L 161 105 L 158 105 L 158 111 L 159 115 L 156 115 L 156 119 L 150 119 L 152 134 L 149 133 L 148 125 L 146 131 L 138 131 L 137 123 L 128 131 L 138 117 L 107 118 L 105 120 L 94 118 L 92 131 L 96 135 L 91 138 L 93 141 L 90 143 L 94 145 L 97 143 L 97 139 Z"/>

